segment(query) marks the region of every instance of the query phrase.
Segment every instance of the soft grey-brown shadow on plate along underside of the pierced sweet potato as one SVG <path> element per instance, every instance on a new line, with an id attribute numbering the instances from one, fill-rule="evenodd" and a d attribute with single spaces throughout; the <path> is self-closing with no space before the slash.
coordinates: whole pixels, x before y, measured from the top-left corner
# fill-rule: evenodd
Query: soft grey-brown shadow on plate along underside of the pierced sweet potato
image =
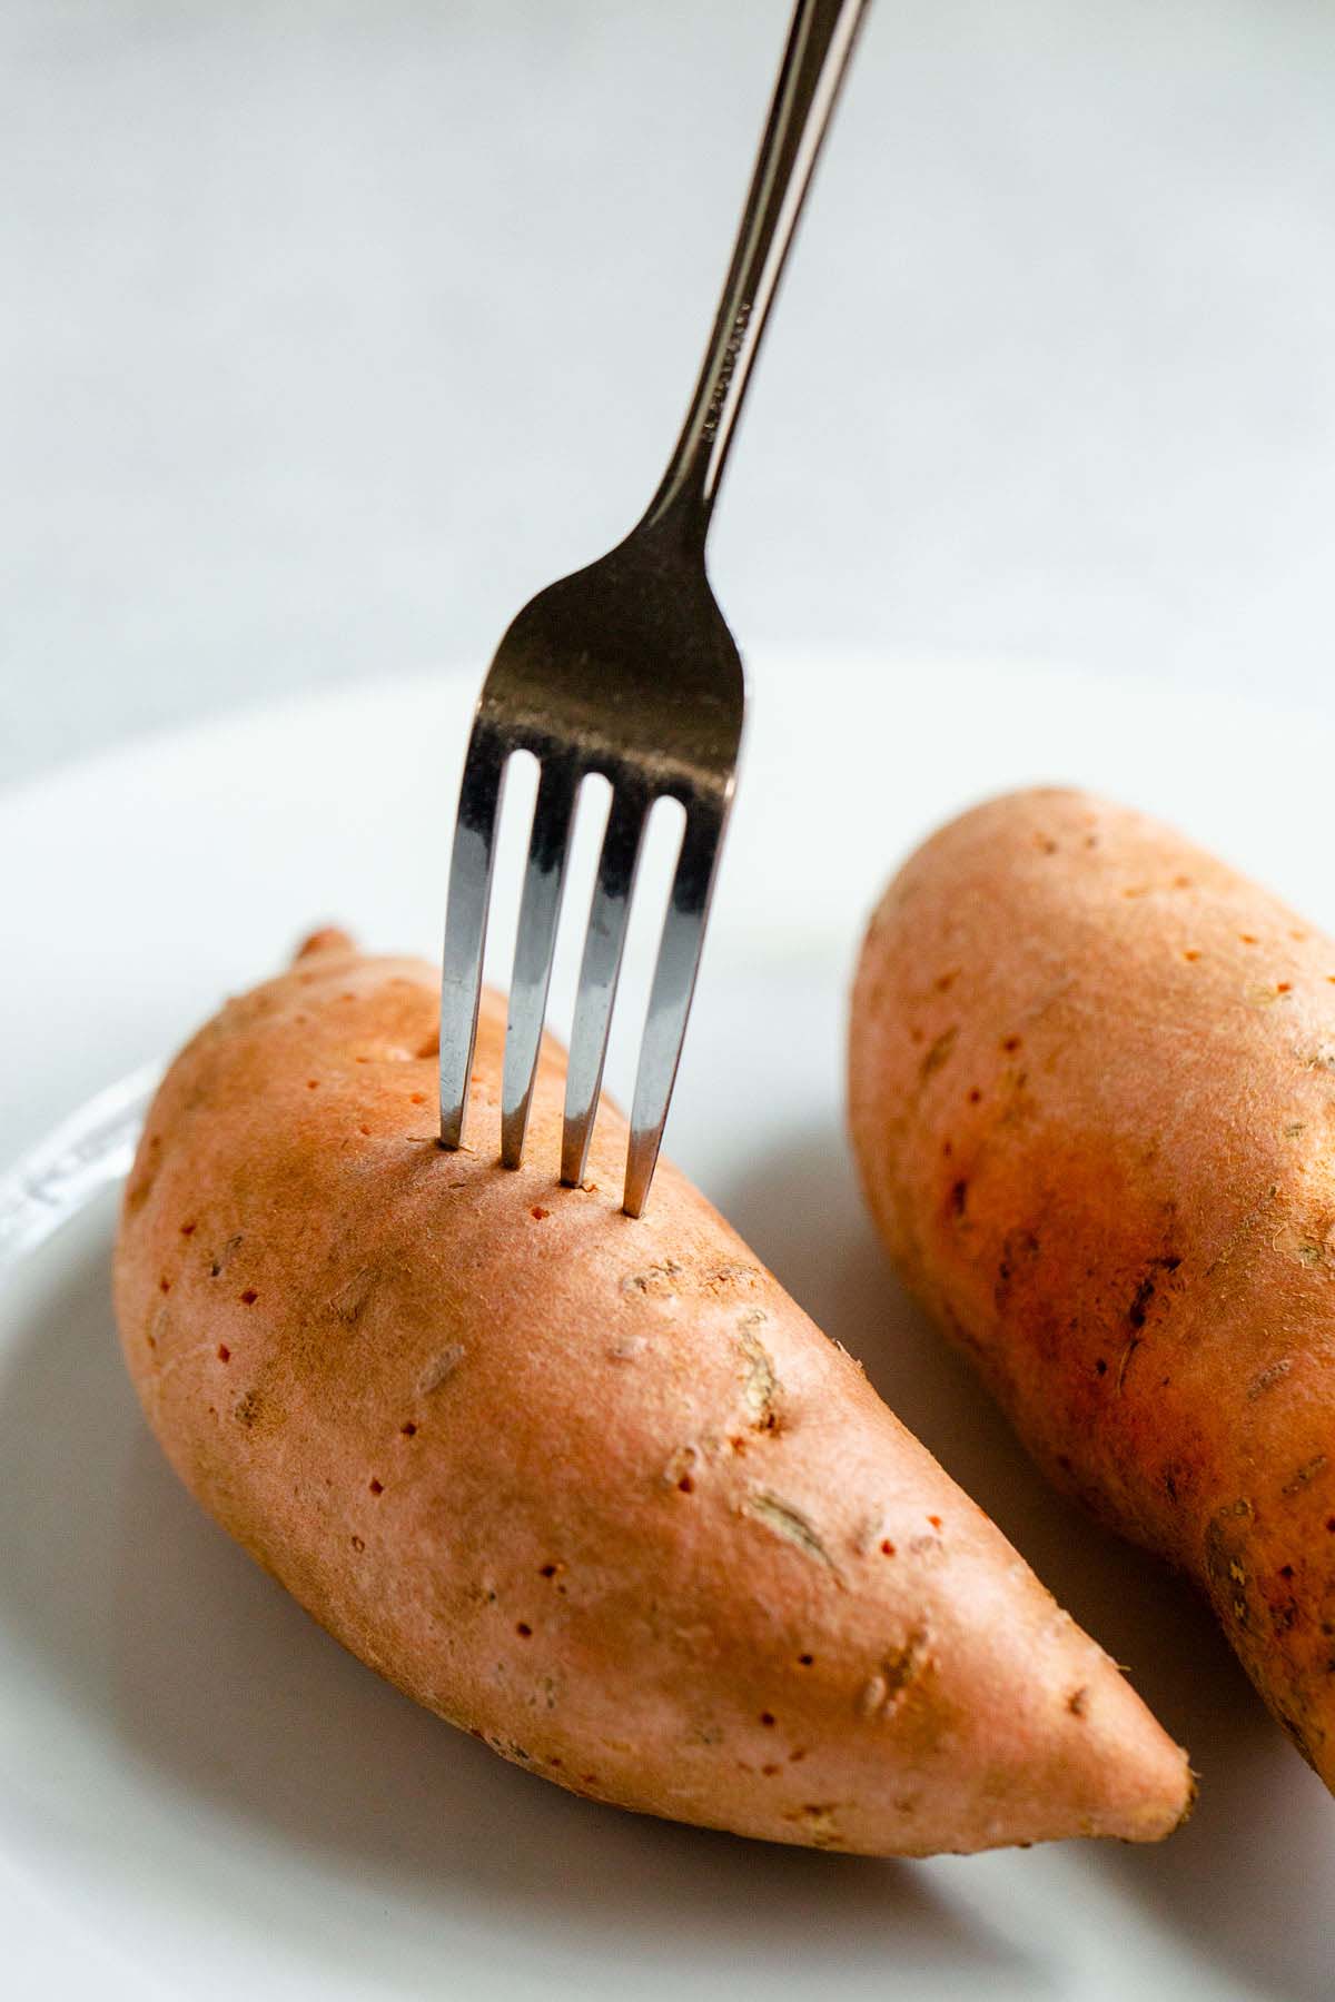
<path id="1" fill-rule="evenodd" d="M 106 1736 L 110 1784 L 152 1784 L 182 1826 L 206 1804 L 306 1864 L 324 1856 L 316 1898 L 352 1878 L 386 1902 L 406 1894 L 428 1922 L 490 1918 L 502 1960 L 536 1928 L 556 1954 L 632 1954 L 642 1974 L 683 1954 L 715 1972 L 743 1960 L 747 1994 L 767 1968 L 783 1990 L 799 1952 L 803 1974 L 825 1968 L 835 1988 L 867 1960 L 913 1964 L 923 1996 L 983 1980 L 999 1996 L 1047 1992 L 1039 1964 L 923 1872 L 596 1808 L 346 1656 L 206 1522 L 148 1437 L 112 1331 L 108 1235 L 48 1247 L 48 1289 L 2 1359 L 0 1455 L 22 1491 L 0 1548 L 0 1634 Z"/>

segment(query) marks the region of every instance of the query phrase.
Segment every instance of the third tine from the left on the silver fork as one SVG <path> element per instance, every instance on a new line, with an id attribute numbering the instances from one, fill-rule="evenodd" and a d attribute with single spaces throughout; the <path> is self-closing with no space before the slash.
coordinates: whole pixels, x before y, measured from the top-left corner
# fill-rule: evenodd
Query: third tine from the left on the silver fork
<path id="1" fill-rule="evenodd" d="M 648 793 L 620 783 L 612 793 L 612 809 L 602 833 L 598 879 L 588 907 L 588 931 L 584 933 L 584 957 L 574 999 L 566 1117 L 560 1135 L 560 1179 L 570 1187 L 578 1187 L 584 1179 L 588 1161 L 646 811 Z"/>

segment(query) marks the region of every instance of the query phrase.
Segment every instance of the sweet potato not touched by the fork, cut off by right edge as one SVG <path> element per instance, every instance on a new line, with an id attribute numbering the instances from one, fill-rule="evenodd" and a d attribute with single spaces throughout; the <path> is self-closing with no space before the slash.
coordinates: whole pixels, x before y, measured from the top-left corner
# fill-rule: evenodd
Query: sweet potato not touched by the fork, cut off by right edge
<path id="1" fill-rule="evenodd" d="M 873 917 L 849 1103 L 909 1285 L 1335 1784 L 1335 943 L 1141 813 L 999 799 Z"/>

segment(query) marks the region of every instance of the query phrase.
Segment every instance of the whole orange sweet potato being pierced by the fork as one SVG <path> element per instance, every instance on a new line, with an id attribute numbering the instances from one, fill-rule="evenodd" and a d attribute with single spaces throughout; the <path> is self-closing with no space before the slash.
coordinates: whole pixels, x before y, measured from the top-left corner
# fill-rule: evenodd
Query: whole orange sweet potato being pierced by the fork
<path id="1" fill-rule="evenodd" d="M 554 1181 L 434 1129 L 438 987 L 336 935 L 178 1057 L 126 1187 L 122 1345 L 204 1508 L 354 1654 L 560 1786 L 927 1854 L 1167 1834 L 1183 1754 L 1003 1536 L 624 1123 Z"/>

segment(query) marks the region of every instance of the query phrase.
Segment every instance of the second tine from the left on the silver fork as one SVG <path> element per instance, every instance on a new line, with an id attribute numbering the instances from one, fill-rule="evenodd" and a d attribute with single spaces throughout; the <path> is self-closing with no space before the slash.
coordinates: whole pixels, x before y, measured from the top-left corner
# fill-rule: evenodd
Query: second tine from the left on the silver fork
<path id="1" fill-rule="evenodd" d="M 504 1075 L 500 1081 L 500 1159 L 504 1167 L 518 1167 L 524 1157 L 524 1131 L 538 1067 L 546 989 L 552 979 L 576 783 L 572 759 L 554 755 L 542 765 L 538 801 L 532 809 L 532 833 L 528 835 L 524 891 L 518 905 L 510 1015 L 504 1029 Z"/>

